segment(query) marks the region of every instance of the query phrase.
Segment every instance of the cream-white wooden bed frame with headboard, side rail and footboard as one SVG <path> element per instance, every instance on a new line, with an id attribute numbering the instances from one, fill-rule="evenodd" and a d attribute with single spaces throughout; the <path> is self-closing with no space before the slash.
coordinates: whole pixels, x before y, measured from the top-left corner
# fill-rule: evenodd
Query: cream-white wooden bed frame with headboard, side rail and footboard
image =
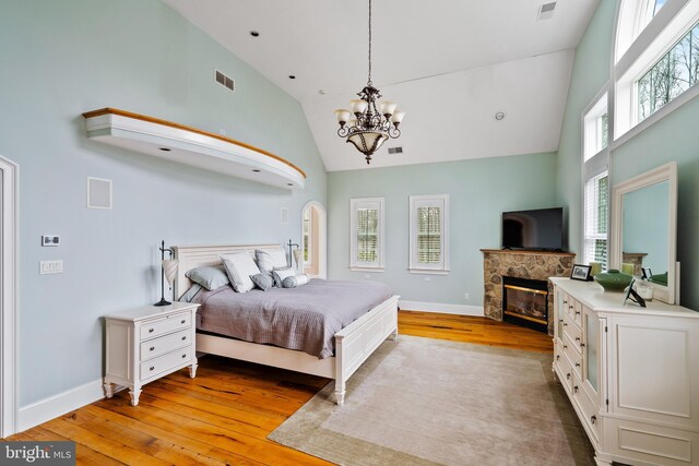
<path id="1" fill-rule="evenodd" d="M 256 249 L 279 250 L 280 244 L 176 246 L 179 260 L 175 295 L 180 297 L 191 282 L 185 273 L 202 265 L 221 264 L 221 254 Z M 346 382 L 386 338 L 398 338 L 398 299 L 392 296 L 335 334 L 335 356 L 318 359 L 303 351 L 260 345 L 222 336 L 197 334 L 197 351 L 225 356 L 275 368 L 325 377 L 335 380 L 335 399 L 344 403 Z"/>

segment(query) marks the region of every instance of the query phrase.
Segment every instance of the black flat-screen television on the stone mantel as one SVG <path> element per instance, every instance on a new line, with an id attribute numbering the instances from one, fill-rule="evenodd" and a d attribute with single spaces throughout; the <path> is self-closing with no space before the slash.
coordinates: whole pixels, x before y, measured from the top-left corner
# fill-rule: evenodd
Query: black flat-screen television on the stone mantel
<path id="1" fill-rule="evenodd" d="M 562 249 L 562 207 L 502 213 L 505 249 L 556 251 Z"/>

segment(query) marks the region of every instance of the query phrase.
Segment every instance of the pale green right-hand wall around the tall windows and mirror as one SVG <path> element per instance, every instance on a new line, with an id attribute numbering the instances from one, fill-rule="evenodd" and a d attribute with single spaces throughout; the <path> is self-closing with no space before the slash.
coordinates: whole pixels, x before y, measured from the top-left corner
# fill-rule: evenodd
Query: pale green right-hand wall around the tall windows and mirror
<path id="1" fill-rule="evenodd" d="M 581 244 L 581 116 L 609 81 L 617 1 L 601 1 L 576 52 L 558 150 L 558 195 L 569 207 L 570 247 Z M 612 153 L 612 184 L 677 162 L 677 259 L 682 304 L 699 310 L 699 99 L 695 98 Z"/>

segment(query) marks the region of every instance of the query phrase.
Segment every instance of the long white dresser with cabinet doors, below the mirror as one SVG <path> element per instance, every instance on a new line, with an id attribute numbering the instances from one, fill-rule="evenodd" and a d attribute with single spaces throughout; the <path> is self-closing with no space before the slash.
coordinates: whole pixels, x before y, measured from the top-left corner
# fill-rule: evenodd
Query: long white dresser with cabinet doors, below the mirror
<path id="1" fill-rule="evenodd" d="M 554 373 L 597 465 L 699 464 L 699 312 L 554 284 Z"/>

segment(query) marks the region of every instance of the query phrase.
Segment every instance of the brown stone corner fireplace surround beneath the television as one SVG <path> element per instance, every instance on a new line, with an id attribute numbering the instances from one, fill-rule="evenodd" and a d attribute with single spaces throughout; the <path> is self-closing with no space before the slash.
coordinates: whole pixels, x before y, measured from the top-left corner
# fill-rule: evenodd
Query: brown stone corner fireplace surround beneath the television
<path id="1" fill-rule="evenodd" d="M 485 316 L 498 321 L 505 318 L 505 278 L 524 278 L 545 283 L 548 294 L 546 295 L 547 312 L 545 321 L 541 323 L 541 328 L 553 334 L 554 332 L 554 292 L 548 277 L 567 277 L 572 271 L 576 254 L 571 252 L 548 252 L 548 251 L 518 251 L 500 249 L 482 249 L 483 252 L 483 283 L 484 298 L 483 308 Z M 517 286 L 517 285 L 514 285 Z M 531 287 L 536 289 L 535 287 Z M 521 294 L 514 294 L 514 296 Z M 534 294 L 537 295 L 537 294 Z M 520 296 L 521 297 L 521 296 Z M 532 297 L 534 301 L 535 297 Z M 541 301 L 541 297 L 538 299 Z M 526 299 L 524 300 L 526 301 Z M 511 301 L 510 301 L 511 302 Z M 520 304 L 521 306 L 521 304 Z M 521 311 L 511 310 L 514 313 Z M 537 319 L 541 318 L 536 314 Z M 521 318 L 516 318 L 520 321 Z M 508 318 L 508 320 L 510 320 Z M 525 319 L 524 319 L 525 320 Z M 538 319 L 543 320 L 543 319 Z"/>

